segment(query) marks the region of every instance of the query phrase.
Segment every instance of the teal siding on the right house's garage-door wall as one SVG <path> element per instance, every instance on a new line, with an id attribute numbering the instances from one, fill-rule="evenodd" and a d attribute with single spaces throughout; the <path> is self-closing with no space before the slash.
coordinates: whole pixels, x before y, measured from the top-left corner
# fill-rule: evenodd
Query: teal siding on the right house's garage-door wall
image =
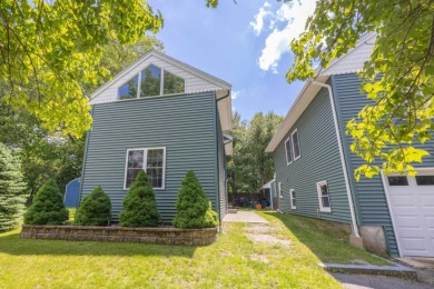
<path id="1" fill-rule="evenodd" d="M 355 73 L 333 76 L 332 83 L 336 99 L 336 110 L 338 111 L 341 133 L 345 136 L 346 123 L 352 118 L 357 117 L 357 113 L 364 106 L 372 102 L 366 96 L 359 94 L 361 80 Z M 354 195 L 358 223 L 382 226 L 386 232 L 389 253 L 396 256 L 398 253 L 397 245 L 383 182 L 379 177 L 372 179 L 361 178 L 358 182 L 355 181 L 354 170 L 364 162 L 349 151 L 352 141 L 352 138 L 347 136 L 343 139 L 343 146 L 349 170 L 351 186 L 353 192 L 356 192 Z M 424 162 L 422 165 L 415 165 L 415 167 L 434 167 L 434 141 L 427 141 L 424 146 L 416 144 L 416 147 L 428 150 L 431 156 L 424 158 Z"/>

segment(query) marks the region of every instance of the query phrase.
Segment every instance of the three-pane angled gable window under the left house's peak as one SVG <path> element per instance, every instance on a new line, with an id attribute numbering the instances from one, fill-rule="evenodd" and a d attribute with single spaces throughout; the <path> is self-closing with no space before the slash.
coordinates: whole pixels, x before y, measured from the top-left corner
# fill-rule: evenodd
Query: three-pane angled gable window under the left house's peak
<path id="1" fill-rule="evenodd" d="M 154 64 L 118 89 L 119 99 L 146 98 L 185 92 L 185 80 Z"/>

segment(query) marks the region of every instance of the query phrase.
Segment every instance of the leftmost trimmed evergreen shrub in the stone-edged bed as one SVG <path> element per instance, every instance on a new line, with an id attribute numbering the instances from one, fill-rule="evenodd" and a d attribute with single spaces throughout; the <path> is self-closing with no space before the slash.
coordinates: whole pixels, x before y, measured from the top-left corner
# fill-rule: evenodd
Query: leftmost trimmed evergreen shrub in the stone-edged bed
<path id="1" fill-rule="evenodd" d="M 24 213 L 24 223 L 63 225 L 68 220 L 68 215 L 63 205 L 63 196 L 56 182 L 49 180 L 34 196 L 33 205 Z"/>

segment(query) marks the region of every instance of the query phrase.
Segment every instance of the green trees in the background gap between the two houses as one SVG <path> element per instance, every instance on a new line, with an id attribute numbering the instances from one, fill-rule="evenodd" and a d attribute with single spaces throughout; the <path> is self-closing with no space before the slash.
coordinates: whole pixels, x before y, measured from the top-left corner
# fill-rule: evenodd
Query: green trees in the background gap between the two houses
<path id="1" fill-rule="evenodd" d="M 273 112 L 258 112 L 250 122 L 233 116 L 234 152 L 228 157 L 227 175 L 229 192 L 257 191 L 273 179 L 273 155 L 265 152 L 276 132 L 282 117 Z"/>

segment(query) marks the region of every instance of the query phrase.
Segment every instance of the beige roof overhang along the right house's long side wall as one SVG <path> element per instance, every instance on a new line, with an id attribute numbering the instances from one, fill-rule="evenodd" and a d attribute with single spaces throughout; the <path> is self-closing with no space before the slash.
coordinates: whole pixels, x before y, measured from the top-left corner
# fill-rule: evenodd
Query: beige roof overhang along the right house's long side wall
<path id="1" fill-rule="evenodd" d="M 319 76 L 315 79 L 315 81 L 325 83 L 328 78 L 329 76 Z M 286 133 L 309 106 L 320 89 L 322 87 L 313 84 L 312 81 L 307 81 L 305 83 L 298 97 L 290 107 L 288 113 L 286 113 L 284 120 L 282 121 L 280 127 L 277 129 L 276 133 L 273 136 L 272 141 L 265 149 L 266 152 L 273 152 L 277 148 L 280 141 L 285 138 Z"/>

